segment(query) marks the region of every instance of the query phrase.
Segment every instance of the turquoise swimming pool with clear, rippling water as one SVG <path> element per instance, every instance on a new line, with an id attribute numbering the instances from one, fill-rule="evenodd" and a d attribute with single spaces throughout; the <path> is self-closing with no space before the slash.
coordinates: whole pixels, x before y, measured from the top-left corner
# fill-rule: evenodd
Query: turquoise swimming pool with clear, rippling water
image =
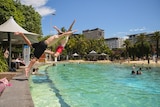
<path id="1" fill-rule="evenodd" d="M 39 72 L 30 77 L 35 107 L 160 106 L 159 68 L 131 75 L 126 65 L 65 63 Z"/>

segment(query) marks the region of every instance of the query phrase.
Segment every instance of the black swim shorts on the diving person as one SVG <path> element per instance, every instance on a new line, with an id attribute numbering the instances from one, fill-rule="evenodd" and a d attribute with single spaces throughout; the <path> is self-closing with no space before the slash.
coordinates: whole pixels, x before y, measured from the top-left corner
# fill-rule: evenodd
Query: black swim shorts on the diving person
<path id="1" fill-rule="evenodd" d="M 34 48 L 34 56 L 39 59 L 46 50 L 47 45 L 44 43 L 44 41 L 41 41 L 39 43 L 33 43 L 32 47 Z"/>

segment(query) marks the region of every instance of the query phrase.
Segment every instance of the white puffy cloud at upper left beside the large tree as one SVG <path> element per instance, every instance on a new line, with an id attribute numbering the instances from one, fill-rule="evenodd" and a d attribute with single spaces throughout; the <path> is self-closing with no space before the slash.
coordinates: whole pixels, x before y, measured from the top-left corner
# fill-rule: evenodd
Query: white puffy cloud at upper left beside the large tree
<path id="1" fill-rule="evenodd" d="M 47 16 L 55 13 L 56 10 L 45 6 L 48 0 L 20 0 L 24 5 L 32 5 L 41 16 Z"/>

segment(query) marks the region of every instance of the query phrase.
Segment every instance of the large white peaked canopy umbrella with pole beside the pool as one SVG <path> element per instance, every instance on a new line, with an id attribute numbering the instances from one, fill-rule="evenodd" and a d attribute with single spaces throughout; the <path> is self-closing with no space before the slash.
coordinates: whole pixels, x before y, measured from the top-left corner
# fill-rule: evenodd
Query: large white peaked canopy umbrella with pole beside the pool
<path id="1" fill-rule="evenodd" d="M 37 42 L 38 34 L 28 32 L 19 26 L 16 21 L 11 16 L 6 22 L 0 25 L 0 42 L 8 41 L 9 46 L 9 67 L 11 68 L 11 45 L 14 44 L 24 44 L 23 40 L 19 36 L 15 36 L 14 32 L 24 33 L 28 39 L 33 43 Z"/>

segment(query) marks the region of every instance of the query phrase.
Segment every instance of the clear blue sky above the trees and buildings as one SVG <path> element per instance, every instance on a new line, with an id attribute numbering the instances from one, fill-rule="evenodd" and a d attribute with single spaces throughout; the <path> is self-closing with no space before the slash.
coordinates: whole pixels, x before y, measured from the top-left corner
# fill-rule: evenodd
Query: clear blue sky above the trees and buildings
<path id="1" fill-rule="evenodd" d="M 42 16 L 43 35 L 56 34 L 53 26 L 73 30 L 100 28 L 105 38 L 160 31 L 160 0 L 20 0 Z M 55 15 L 53 15 L 55 14 Z"/>

